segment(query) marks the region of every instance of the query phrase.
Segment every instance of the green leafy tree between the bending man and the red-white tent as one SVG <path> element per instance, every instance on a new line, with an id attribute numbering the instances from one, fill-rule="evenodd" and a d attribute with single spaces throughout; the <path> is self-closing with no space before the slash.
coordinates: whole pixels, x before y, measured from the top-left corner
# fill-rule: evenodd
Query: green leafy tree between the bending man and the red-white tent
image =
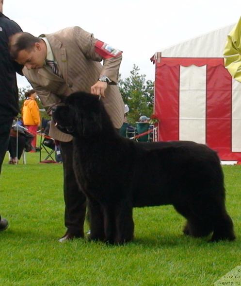
<path id="1" fill-rule="evenodd" d="M 145 79 L 145 74 L 139 74 L 140 69 L 135 64 L 130 76 L 125 80 L 119 77 L 118 87 L 125 104 L 129 106 L 129 122 L 134 124 L 141 115 L 150 117 L 153 114 L 154 82 Z"/>

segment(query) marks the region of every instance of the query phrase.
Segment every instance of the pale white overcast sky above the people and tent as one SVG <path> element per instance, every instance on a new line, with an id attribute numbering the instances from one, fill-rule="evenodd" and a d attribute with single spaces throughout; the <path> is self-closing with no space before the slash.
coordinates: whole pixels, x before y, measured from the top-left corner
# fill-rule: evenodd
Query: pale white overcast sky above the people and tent
<path id="1" fill-rule="evenodd" d="M 154 80 L 155 52 L 236 23 L 241 0 L 4 0 L 3 13 L 34 36 L 80 26 L 123 51 L 122 78 L 136 64 Z"/>

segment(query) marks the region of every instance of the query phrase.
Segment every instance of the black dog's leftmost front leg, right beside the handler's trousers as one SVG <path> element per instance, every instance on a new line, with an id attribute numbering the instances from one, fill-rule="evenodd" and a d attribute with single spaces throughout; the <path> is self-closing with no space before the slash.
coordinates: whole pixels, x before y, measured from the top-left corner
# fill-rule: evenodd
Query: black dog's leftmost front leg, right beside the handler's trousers
<path id="1" fill-rule="evenodd" d="M 88 200 L 88 209 L 90 215 L 90 240 L 104 241 L 104 218 L 101 205 L 95 200 Z"/>

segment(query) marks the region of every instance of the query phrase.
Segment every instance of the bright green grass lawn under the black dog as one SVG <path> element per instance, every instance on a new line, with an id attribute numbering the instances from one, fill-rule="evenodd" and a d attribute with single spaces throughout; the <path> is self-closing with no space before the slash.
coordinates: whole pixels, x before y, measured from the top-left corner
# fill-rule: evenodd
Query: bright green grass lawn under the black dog
<path id="1" fill-rule="evenodd" d="M 224 166 L 235 242 L 186 237 L 184 219 L 162 206 L 134 210 L 135 240 L 125 246 L 61 244 L 62 165 L 40 164 L 38 156 L 28 153 L 17 166 L 5 158 L 2 166 L 0 214 L 10 227 L 0 233 L 0 286 L 209 286 L 241 265 L 241 166 Z"/>

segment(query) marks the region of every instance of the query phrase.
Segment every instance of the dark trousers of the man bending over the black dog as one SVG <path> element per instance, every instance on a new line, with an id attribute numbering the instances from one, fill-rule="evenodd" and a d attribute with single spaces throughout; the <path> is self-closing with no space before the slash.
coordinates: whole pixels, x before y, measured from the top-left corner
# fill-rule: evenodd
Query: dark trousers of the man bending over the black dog
<path id="1" fill-rule="evenodd" d="M 64 225 L 67 232 L 83 237 L 86 197 L 81 192 L 75 178 L 72 141 L 60 142 L 60 147 L 64 167 Z"/>

